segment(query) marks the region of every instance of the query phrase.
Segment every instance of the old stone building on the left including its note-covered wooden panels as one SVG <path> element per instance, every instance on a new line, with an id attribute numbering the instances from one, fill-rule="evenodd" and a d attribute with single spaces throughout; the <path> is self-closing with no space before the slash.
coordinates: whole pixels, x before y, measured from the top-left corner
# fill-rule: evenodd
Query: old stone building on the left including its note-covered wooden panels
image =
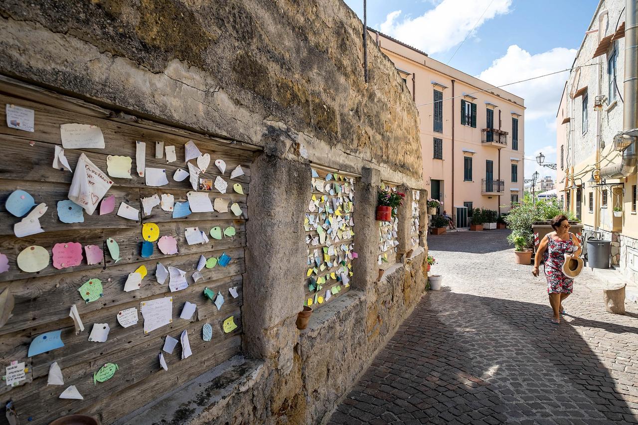
<path id="1" fill-rule="evenodd" d="M 0 204 L 24 190 L 49 208 L 40 218 L 45 232 L 23 238 L 14 235 L 20 219 L 1 213 L 1 367 L 26 371 L 15 386 L 3 385 L 3 405 L 33 424 L 73 413 L 103 424 L 323 421 L 426 286 L 418 112 L 373 42 L 364 79 L 362 22 L 341 0 L 56 0 L 3 3 L 0 11 L 0 96 L 7 114 L 22 111 L 27 123 L 34 114 L 34 131 L 1 120 L 10 125 L 1 128 Z M 88 147 L 78 137 L 65 145 L 62 126 L 70 123 L 94 135 Z M 201 150 L 195 165 L 186 164 L 191 142 Z M 71 172 L 59 165 L 64 154 Z M 66 200 L 75 174 L 100 168 L 114 177 L 114 156 L 129 167 L 135 156 L 137 174 L 124 167 L 108 181 L 107 195 L 129 213 L 82 215 L 79 207 L 83 222 L 61 220 L 68 213 L 54 205 Z M 77 167 L 83 158 L 93 166 Z M 204 171 L 214 188 L 212 179 L 198 189 L 195 179 L 192 190 L 190 179 L 149 184 L 151 172 L 163 181 L 179 167 L 190 177 Z M 381 187 L 406 193 L 394 228 L 383 232 L 374 220 Z M 215 198 L 214 212 L 205 202 L 210 212 L 184 207 L 200 193 Z M 174 195 L 173 214 L 147 205 L 159 195 Z M 175 214 L 178 204 L 186 216 Z M 142 223 L 150 221 L 159 234 L 176 235 L 179 249 L 161 255 L 151 238 L 145 255 Z M 323 225 L 327 232 L 317 230 Z M 93 263 L 80 251 L 66 267 L 54 248 L 56 267 L 39 271 L 18 258 L 36 248 L 48 258 L 56 242 L 68 241 L 94 241 L 103 258 Z M 159 262 L 171 270 L 170 291 Z M 175 270 L 186 272 L 186 288 L 173 287 L 181 281 Z M 135 274 L 144 280 L 127 289 Z M 103 292 L 87 287 L 84 299 L 78 287 L 89 279 Z M 168 302 L 168 317 L 165 308 L 146 315 L 158 300 Z M 187 301 L 196 313 L 187 313 Z M 315 311 L 299 331 L 304 304 Z M 139 324 L 115 320 L 125 308 L 135 317 L 140 308 Z M 147 331 L 151 317 L 165 321 L 161 330 Z M 91 324 L 110 327 L 98 338 L 104 343 L 88 338 Z M 47 332 L 64 346 L 29 355 Z M 58 366 L 64 385 L 47 386 Z M 59 398 L 71 386 L 64 392 L 83 399 Z"/>

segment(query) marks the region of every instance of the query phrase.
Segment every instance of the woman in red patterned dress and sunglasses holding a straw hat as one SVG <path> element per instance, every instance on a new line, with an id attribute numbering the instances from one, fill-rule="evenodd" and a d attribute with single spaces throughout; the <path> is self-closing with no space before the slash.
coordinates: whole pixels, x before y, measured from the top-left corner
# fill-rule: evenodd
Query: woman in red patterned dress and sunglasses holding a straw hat
<path id="1" fill-rule="evenodd" d="M 581 242 L 569 232 L 569 221 L 564 215 L 556 216 L 550 224 L 554 232 L 547 234 L 536 251 L 534 260 L 534 270 L 532 274 L 538 276 L 538 266 L 540 258 L 545 258 L 545 276 L 547 277 L 547 293 L 549 294 L 549 305 L 554 311 L 553 324 L 560 324 L 560 315 L 565 314 L 563 300 L 567 298 L 574 289 L 574 279 L 565 276 L 563 264 L 565 264 L 565 254 L 568 258 L 578 257 L 581 252 Z"/>

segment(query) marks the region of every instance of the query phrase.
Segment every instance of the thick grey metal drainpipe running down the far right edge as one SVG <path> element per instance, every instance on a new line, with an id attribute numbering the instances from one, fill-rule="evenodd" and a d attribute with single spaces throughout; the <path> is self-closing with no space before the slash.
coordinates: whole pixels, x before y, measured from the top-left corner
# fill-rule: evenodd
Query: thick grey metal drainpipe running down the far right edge
<path id="1" fill-rule="evenodd" d="M 623 131 L 614 137 L 614 144 L 625 147 L 621 163 L 600 170 L 602 179 L 622 179 L 638 170 L 638 4 L 627 0 L 625 6 L 625 82 L 623 84 Z"/>

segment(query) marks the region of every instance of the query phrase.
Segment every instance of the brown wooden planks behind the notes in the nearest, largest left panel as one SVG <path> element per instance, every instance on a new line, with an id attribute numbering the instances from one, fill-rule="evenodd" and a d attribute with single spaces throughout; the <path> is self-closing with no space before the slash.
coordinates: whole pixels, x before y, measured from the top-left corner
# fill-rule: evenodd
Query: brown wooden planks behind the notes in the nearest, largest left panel
<path id="1" fill-rule="evenodd" d="M 35 111 L 35 131 L 13 130 L 6 126 L 4 104 L 15 104 Z M 14 86 L 3 80 L 0 84 L 0 253 L 9 259 L 10 269 L 0 274 L 0 291 L 10 288 L 15 297 L 13 317 L 0 327 L 0 367 L 11 361 L 25 361 L 29 370 L 27 382 L 18 387 L 3 385 L 0 389 L 1 403 L 13 400 L 20 423 L 45 424 L 66 414 L 84 413 L 100 417 L 103 423 L 113 422 L 151 399 L 174 389 L 191 378 L 204 373 L 213 366 L 237 354 L 241 350 L 241 306 L 244 247 L 246 246 L 246 199 L 249 193 L 250 164 L 254 149 L 244 145 L 225 144 L 222 141 L 186 131 L 171 129 L 142 121 L 122 122 L 117 114 L 81 101 L 64 98 L 59 94 L 46 93 L 41 89 L 30 89 L 24 85 Z M 113 119 L 110 117 L 114 117 Z M 54 149 L 61 145 L 60 124 L 81 123 L 99 126 L 105 139 L 105 149 L 65 149 L 71 168 L 75 170 L 78 156 L 85 153 L 89 160 L 107 172 L 108 154 L 130 156 L 133 167 L 132 179 L 113 179 L 108 195 L 115 195 L 115 211 L 100 216 L 84 214 L 84 223 L 66 224 L 57 217 L 57 201 L 67 198 L 73 174 L 52 168 Z M 140 199 L 157 193 L 171 193 L 175 202 L 186 201 L 191 189 L 188 178 L 181 182 L 172 179 L 177 168 L 188 170 L 184 162 L 184 144 L 192 139 L 202 153 L 211 154 L 211 164 L 204 177 L 215 179 L 221 175 L 214 160 L 226 162 L 223 178 L 228 182 L 228 191 L 222 195 L 216 190 L 210 197 L 238 202 L 244 213 L 236 217 L 233 213 L 193 213 L 174 219 L 172 213 L 161 207 L 152 209 L 144 216 Z M 146 143 L 146 167 L 165 168 L 169 183 L 159 188 L 145 186 L 144 177 L 135 172 L 135 141 Z M 155 158 L 155 142 L 175 145 L 177 161 L 167 164 L 165 156 Z M 195 163 L 195 161 L 193 161 Z M 245 175 L 230 180 L 230 172 L 241 165 Z M 232 184 L 241 183 L 244 193 L 234 193 Z M 45 202 L 48 211 L 41 218 L 45 233 L 23 238 L 13 234 L 13 224 L 20 219 L 8 213 L 4 203 L 14 190 L 31 193 L 36 204 Z M 141 221 L 131 221 L 117 216 L 117 208 L 124 201 L 140 209 Z M 177 239 L 179 253 L 163 255 L 154 242 L 154 252 L 149 258 L 140 257 L 142 224 L 157 223 L 160 237 L 173 235 Z M 214 226 L 234 226 L 234 237 L 212 239 L 207 244 L 188 245 L 184 237 L 185 227 L 199 227 L 205 232 Z M 108 237 L 119 243 L 122 260 L 114 264 L 105 246 Z M 80 242 L 82 246 L 95 244 L 105 250 L 104 260 L 98 265 L 87 265 L 85 258 L 77 267 L 58 270 L 48 265 L 36 273 L 23 272 L 17 267 L 16 257 L 27 246 L 40 245 L 51 252 L 57 242 Z M 191 275 L 196 271 L 200 255 L 206 258 L 219 257 L 226 253 L 232 260 L 226 267 L 204 268 L 204 279 L 194 283 Z M 157 262 L 166 267 L 175 266 L 186 271 L 189 287 L 170 292 L 168 279 L 164 285 L 155 280 Z M 124 282 L 130 272 L 145 265 L 149 273 L 142 287 L 124 292 Z M 85 303 L 78 288 L 91 278 L 99 278 L 104 287 L 104 296 L 98 301 Z M 239 297 L 234 299 L 229 287 L 238 287 Z M 205 298 L 203 290 L 209 287 L 221 292 L 225 303 L 220 311 L 213 302 Z M 170 296 L 173 299 L 173 322 L 145 335 L 144 318 L 139 308 L 140 301 Z M 179 318 L 186 301 L 197 304 L 193 319 Z M 75 304 L 84 322 L 85 330 L 75 335 L 73 321 L 69 317 L 70 307 Z M 124 328 L 116 320 L 117 312 L 137 307 L 138 324 Z M 235 317 L 238 328 L 228 334 L 223 332 L 226 318 Z M 105 343 L 88 341 L 94 323 L 110 326 Z M 202 325 L 212 325 L 212 340 L 202 339 Z M 31 340 L 43 332 L 62 330 L 64 347 L 50 352 L 27 357 Z M 178 339 L 182 331 L 188 331 L 191 357 L 181 360 L 181 345 L 178 343 L 172 354 L 163 353 L 168 371 L 158 362 L 158 354 L 167 335 Z M 62 368 L 64 385 L 47 385 L 47 375 L 52 362 Z M 94 385 L 93 373 L 107 362 L 115 363 L 119 370 L 106 382 Z M 68 385 L 75 385 L 84 396 L 83 400 L 59 399 L 59 394 Z M 2 415 L 4 418 L 4 414 Z"/>

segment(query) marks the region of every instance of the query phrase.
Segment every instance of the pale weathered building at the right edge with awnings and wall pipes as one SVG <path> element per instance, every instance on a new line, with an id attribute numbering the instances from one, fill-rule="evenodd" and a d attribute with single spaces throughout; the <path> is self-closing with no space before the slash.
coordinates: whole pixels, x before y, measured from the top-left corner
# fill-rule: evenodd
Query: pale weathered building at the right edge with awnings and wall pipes
<path id="1" fill-rule="evenodd" d="M 612 241 L 612 264 L 633 280 L 638 276 L 635 139 L 621 133 L 638 126 L 636 58 L 627 56 L 635 52 L 636 33 L 629 29 L 635 9 L 634 1 L 598 3 L 556 114 L 559 199 L 586 230 Z"/>

